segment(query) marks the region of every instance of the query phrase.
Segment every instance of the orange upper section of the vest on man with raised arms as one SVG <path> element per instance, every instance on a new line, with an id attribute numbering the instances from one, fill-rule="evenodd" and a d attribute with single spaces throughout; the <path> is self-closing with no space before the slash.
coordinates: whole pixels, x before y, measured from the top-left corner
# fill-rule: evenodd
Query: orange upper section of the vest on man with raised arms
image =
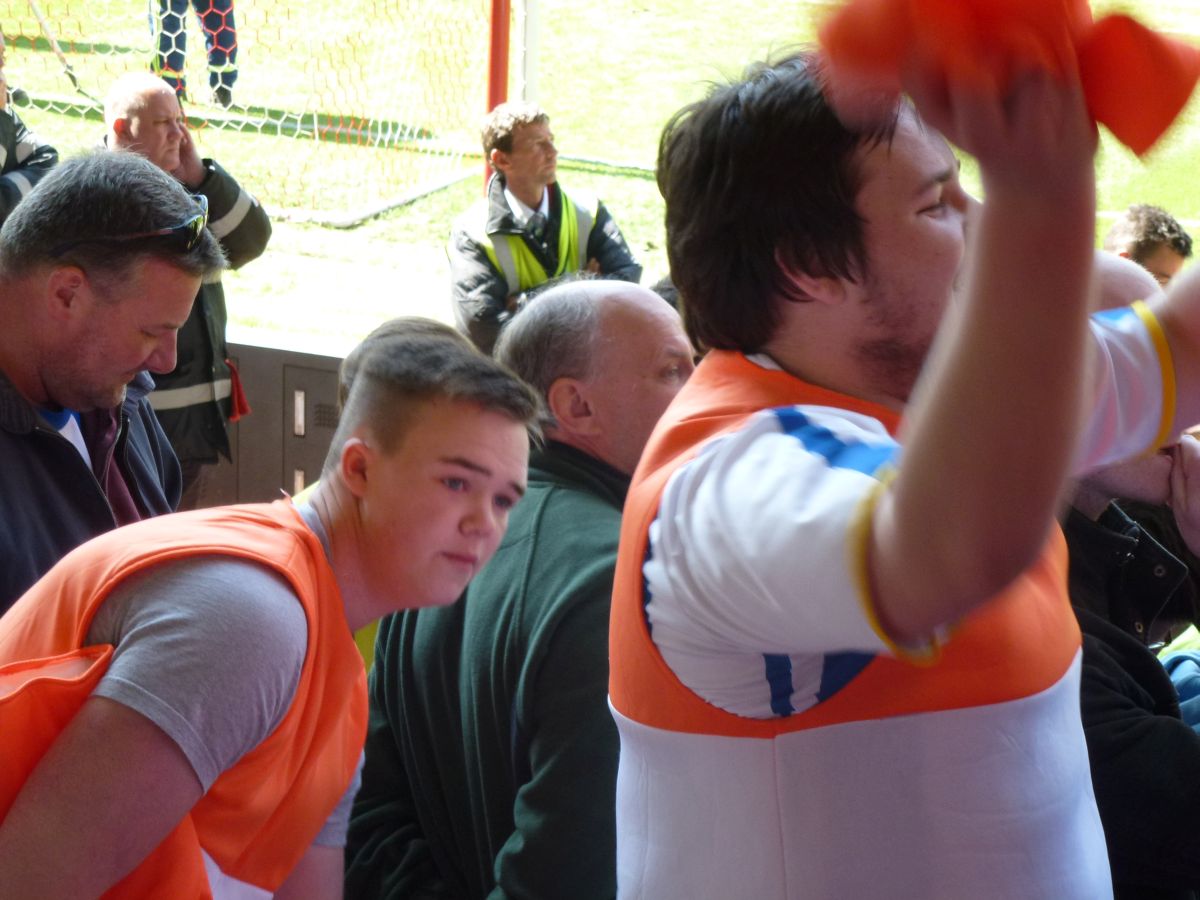
<path id="1" fill-rule="evenodd" d="M 671 474 L 701 444 L 754 413 L 792 404 L 869 415 L 895 432 L 898 416 L 745 356 L 713 352 L 667 409 L 625 502 L 610 626 L 610 700 L 624 716 L 674 732 L 770 738 L 850 721 L 956 709 L 1031 696 L 1058 682 L 1080 647 L 1066 588 L 1066 542 L 1056 527 L 1042 557 L 1002 594 L 955 625 L 929 665 L 876 656 L 838 694 L 790 716 L 748 719 L 689 690 L 655 647 L 643 610 L 649 528 Z M 936 523 L 934 523 L 936 527 Z"/>

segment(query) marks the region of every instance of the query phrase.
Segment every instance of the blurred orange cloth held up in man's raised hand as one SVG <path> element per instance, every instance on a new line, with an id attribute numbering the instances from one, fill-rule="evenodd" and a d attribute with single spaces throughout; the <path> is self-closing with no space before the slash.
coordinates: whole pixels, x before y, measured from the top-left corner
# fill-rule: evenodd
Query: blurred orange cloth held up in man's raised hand
<path id="1" fill-rule="evenodd" d="M 850 0 L 821 28 L 830 77 L 899 94 L 908 61 L 980 85 L 1030 67 L 1079 72 L 1092 118 L 1139 156 L 1200 79 L 1200 49 L 1086 0 Z"/>

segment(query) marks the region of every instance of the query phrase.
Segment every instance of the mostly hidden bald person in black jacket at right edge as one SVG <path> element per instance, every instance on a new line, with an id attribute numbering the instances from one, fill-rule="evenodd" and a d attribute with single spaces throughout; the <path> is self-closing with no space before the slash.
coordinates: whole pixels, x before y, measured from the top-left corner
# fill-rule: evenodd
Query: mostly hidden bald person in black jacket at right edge
<path id="1" fill-rule="evenodd" d="M 1157 296 L 1133 262 L 1099 254 L 1100 308 Z M 1200 616 L 1200 442 L 1088 473 L 1063 520 L 1084 634 L 1084 736 L 1117 898 L 1195 900 L 1200 736 L 1154 650 Z"/>

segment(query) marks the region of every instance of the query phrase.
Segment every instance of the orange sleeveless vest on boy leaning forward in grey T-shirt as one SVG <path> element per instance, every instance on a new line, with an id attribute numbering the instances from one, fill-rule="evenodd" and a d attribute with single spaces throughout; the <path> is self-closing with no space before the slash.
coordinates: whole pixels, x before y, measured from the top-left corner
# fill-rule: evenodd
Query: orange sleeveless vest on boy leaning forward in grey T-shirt
<path id="1" fill-rule="evenodd" d="M 292 584 L 308 620 L 300 680 L 276 730 L 107 898 L 211 896 L 202 850 L 224 875 L 276 890 L 346 793 L 362 751 L 362 659 L 324 548 L 299 512 L 277 500 L 161 516 L 72 551 L 0 619 L 0 734 L 5 768 L 10 754 L 18 763 L 0 778 L 0 818 L 107 667 L 110 648 L 80 648 L 108 593 L 146 566 L 211 554 L 260 563 Z M 31 719 L 31 708 L 43 714 Z"/>

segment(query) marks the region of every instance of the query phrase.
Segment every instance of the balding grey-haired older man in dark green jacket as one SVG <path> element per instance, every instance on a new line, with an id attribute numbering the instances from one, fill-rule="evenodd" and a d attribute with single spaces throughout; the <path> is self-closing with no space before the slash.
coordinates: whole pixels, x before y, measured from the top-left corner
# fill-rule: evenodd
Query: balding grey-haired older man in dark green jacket
<path id="1" fill-rule="evenodd" d="M 380 624 L 348 896 L 616 893 L 620 510 L 692 349 L 649 290 L 577 281 L 532 300 L 496 355 L 545 398 L 547 443 L 463 601 Z"/>

